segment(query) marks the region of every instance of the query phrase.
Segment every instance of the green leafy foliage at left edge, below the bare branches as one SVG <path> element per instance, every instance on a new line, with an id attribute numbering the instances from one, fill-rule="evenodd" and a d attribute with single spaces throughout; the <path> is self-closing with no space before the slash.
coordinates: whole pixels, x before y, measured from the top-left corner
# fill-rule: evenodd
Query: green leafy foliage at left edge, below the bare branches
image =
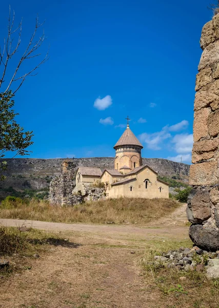
<path id="1" fill-rule="evenodd" d="M 12 109 L 14 106 L 13 96 L 11 91 L 0 93 L 0 158 L 3 158 L 8 151 L 14 152 L 14 157 L 29 155 L 26 148 L 33 144 L 31 141 L 32 131 L 24 131 L 24 128 L 14 120 L 18 113 Z M 3 173 L 6 168 L 6 162 L 1 161 L 0 180 L 5 179 Z"/>

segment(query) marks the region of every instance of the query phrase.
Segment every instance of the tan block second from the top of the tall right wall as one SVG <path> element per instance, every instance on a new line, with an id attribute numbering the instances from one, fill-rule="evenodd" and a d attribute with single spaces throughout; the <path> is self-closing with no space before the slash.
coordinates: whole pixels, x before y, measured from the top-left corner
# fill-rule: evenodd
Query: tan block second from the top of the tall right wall
<path id="1" fill-rule="evenodd" d="M 200 63 L 198 65 L 198 71 L 213 65 L 219 61 L 219 41 L 215 41 L 208 45 L 201 56 Z"/>

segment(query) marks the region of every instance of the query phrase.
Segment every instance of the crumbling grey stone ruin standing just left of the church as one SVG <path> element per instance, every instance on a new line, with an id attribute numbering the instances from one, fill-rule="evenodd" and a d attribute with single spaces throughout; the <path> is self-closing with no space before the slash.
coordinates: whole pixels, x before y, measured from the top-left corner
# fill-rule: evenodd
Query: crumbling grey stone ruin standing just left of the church
<path id="1" fill-rule="evenodd" d="M 49 202 L 52 205 L 67 205 L 83 203 L 85 201 L 96 201 L 105 198 L 105 189 L 86 185 L 84 196 L 73 194 L 75 186 L 74 176 L 76 164 L 72 161 L 64 161 L 61 165 L 61 175 L 55 177 L 50 182 Z"/>

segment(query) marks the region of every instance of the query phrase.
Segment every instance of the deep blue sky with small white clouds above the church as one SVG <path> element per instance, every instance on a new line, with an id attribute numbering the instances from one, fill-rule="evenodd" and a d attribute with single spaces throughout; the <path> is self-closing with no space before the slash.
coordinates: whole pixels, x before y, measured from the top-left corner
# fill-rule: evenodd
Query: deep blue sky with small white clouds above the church
<path id="1" fill-rule="evenodd" d="M 37 13 L 46 20 L 42 54 L 50 48 L 49 61 L 15 95 L 18 123 L 34 132 L 30 157 L 114 156 L 129 115 L 143 157 L 190 163 L 195 74 L 201 30 L 212 17 L 209 1 L 6 0 L 1 44 L 9 4 L 17 23 L 23 17 L 20 50 Z"/>

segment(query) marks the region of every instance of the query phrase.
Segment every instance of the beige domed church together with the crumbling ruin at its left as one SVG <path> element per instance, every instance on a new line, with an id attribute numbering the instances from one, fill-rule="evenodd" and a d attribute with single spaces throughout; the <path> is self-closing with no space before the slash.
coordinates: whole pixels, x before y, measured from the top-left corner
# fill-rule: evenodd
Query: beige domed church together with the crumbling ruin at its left
<path id="1" fill-rule="evenodd" d="M 169 198 L 169 184 L 157 179 L 157 172 L 142 165 L 143 145 L 129 124 L 114 146 L 114 169 L 62 164 L 61 178 L 50 184 L 50 203 L 73 205 L 99 198 Z"/>

